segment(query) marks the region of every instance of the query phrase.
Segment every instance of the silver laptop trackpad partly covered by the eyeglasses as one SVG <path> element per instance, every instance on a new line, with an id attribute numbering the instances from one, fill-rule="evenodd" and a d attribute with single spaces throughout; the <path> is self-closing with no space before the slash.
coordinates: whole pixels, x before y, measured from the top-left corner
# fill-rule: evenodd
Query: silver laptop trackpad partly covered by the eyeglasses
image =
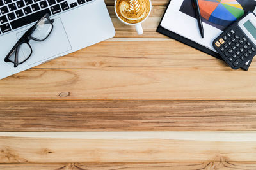
<path id="1" fill-rule="evenodd" d="M 26 61 L 28 65 L 35 64 L 36 62 L 44 62 L 51 57 L 59 57 L 61 53 L 72 49 L 61 19 L 54 19 L 53 25 L 52 32 L 47 39 L 42 42 L 29 41 L 33 53 Z M 17 38 L 19 39 L 25 32 L 26 30 L 17 33 Z"/>

